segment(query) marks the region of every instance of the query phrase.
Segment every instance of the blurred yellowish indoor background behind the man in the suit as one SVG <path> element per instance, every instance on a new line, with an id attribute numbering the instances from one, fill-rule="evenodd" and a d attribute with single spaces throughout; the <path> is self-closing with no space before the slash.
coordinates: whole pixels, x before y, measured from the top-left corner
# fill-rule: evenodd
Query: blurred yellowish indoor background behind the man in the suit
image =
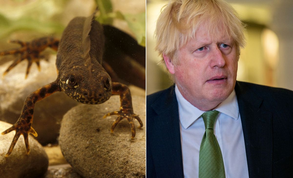
<path id="1" fill-rule="evenodd" d="M 247 24 L 237 80 L 293 90 L 293 1 L 226 0 Z M 167 0 L 147 0 L 147 94 L 172 82 L 154 51 L 154 30 Z"/>

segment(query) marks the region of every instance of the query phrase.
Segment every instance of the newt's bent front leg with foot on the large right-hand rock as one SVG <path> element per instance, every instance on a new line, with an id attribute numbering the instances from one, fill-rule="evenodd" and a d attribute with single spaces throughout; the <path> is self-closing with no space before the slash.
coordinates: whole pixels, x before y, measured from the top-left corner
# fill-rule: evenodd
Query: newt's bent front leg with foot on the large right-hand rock
<path id="1" fill-rule="evenodd" d="M 117 124 L 124 118 L 127 119 L 127 121 L 130 124 L 131 127 L 131 138 L 135 137 L 135 125 L 133 122 L 133 119 L 135 118 L 139 124 L 140 127 L 143 126 L 142 120 L 139 118 L 137 114 L 133 113 L 132 108 L 132 99 L 129 88 L 121 83 L 112 82 L 112 95 L 119 94 L 120 95 L 120 111 L 114 111 L 111 113 L 106 114 L 103 118 L 111 115 L 118 115 L 117 119 L 113 122 L 111 127 L 111 132 L 113 133 L 115 127 Z"/>

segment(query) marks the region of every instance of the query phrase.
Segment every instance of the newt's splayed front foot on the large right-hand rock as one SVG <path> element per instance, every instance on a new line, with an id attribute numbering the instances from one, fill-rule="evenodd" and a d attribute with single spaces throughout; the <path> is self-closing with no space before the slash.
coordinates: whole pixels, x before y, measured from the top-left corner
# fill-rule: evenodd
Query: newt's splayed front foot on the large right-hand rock
<path id="1" fill-rule="evenodd" d="M 124 118 L 126 118 L 130 124 L 131 138 L 135 137 L 135 125 L 134 125 L 133 119 L 135 118 L 139 122 L 139 124 L 140 124 L 139 128 L 141 128 L 143 126 L 142 120 L 139 118 L 139 116 L 137 114 L 134 114 L 131 111 L 125 111 L 125 110 L 121 109 L 120 111 L 114 111 L 114 112 L 108 113 L 105 116 L 103 116 L 103 118 L 111 116 L 111 115 L 118 115 L 118 117 L 116 118 L 116 120 L 112 124 L 111 130 L 110 130 L 111 133 L 114 132 L 114 129 L 117 126 L 117 124 Z"/>

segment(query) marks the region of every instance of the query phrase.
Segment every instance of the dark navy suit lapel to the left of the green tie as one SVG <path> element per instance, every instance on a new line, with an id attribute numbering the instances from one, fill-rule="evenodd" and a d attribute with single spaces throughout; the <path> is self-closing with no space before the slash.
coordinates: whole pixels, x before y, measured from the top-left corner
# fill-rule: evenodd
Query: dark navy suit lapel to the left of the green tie
<path id="1" fill-rule="evenodd" d="M 148 122 L 147 127 L 152 132 L 150 137 L 156 135 L 156 138 L 149 140 L 152 140 L 151 148 L 156 150 L 152 156 L 157 176 L 183 178 L 179 113 L 174 86 L 151 107 L 157 116 L 148 118 L 151 122 Z"/>

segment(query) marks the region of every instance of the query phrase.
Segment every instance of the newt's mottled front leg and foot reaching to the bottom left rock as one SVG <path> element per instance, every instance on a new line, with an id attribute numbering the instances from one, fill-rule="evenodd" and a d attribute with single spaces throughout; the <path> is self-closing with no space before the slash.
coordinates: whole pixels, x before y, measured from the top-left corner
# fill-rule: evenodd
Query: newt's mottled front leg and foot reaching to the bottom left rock
<path id="1" fill-rule="evenodd" d="M 19 136 L 22 134 L 24 137 L 25 147 L 26 147 L 26 153 L 29 154 L 30 152 L 30 146 L 28 144 L 28 134 L 33 134 L 35 137 L 38 136 L 38 134 L 35 132 L 35 130 L 31 127 L 33 123 L 33 113 L 34 113 L 34 106 L 37 101 L 40 101 L 41 99 L 50 96 L 52 93 L 60 91 L 60 87 L 58 85 L 58 82 L 52 82 L 50 84 L 47 84 L 38 90 L 34 91 L 32 94 L 30 94 L 28 97 L 26 97 L 24 106 L 21 112 L 21 116 L 18 118 L 18 121 L 2 132 L 1 134 L 4 135 L 6 133 L 9 133 L 13 130 L 16 131 L 14 138 L 11 142 L 10 148 L 8 152 L 6 153 L 6 157 L 9 156 L 19 138 Z"/>

